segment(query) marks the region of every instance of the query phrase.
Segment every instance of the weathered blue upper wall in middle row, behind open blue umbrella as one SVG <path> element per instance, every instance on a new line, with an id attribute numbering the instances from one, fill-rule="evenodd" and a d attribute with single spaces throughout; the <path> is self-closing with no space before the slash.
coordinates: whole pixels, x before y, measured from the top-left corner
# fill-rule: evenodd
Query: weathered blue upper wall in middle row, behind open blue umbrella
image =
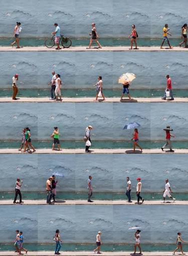
<path id="1" fill-rule="evenodd" d="M 33 139 L 49 140 L 56 125 L 62 140 L 83 140 L 89 124 L 94 127 L 93 140 L 130 140 L 133 130 L 123 127 L 136 121 L 141 125 L 140 140 L 164 140 L 163 129 L 170 125 L 173 140 L 184 141 L 187 110 L 187 103 L 1 103 L 0 140 L 21 139 L 25 126 L 31 128 Z"/>

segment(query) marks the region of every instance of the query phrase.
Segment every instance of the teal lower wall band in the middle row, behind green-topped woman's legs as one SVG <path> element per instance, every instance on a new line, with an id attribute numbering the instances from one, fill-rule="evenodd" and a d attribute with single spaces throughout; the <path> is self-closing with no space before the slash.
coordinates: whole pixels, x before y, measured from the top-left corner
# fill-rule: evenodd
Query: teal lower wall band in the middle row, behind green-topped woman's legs
<path id="1" fill-rule="evenodd" d="M 83 141 L 60 141 L 62 149 L 84 149 Z M 140 147 L 143 149 L 160 149 L 164 145 L 164 141 L 139 141 Z M 32 144 L 36 149 L 52 148 L 52 141 L 35 141 Z M 0 149 L 19 149 L 21 141 L 1 140 Z M 92 141 L 92 149 L 131 149 L 133 143 L 131 141 Z M 174 149 L 188 149 L 188 141 L 172 141 Z"/>

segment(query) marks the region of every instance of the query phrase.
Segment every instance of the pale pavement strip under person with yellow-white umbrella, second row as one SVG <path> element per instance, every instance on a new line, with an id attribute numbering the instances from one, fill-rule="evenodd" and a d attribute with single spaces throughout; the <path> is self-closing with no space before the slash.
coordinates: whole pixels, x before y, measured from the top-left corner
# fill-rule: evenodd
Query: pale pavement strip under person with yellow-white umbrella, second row
<path id="1" fill-rule="evenodd" d="M 120 97 L 106 97 L 106 100 L 95 101 L 94 97 L 83 97 L 83 98 L 72 98 L 72 97 L 63 97 L 62 101 L 51 100 L 49 97 L 21 97 L 18 100 L 13 100 L 12 97 L 0 97 L 0 102 L 51 102 L 51 103 L 60 103 L 60 102 L 188 102 L 187 98 L 174 98 L 174 100 L 163 100 L 161 98 L 133 98 L 129 100 L 124 98 L 120 101 Z"/>

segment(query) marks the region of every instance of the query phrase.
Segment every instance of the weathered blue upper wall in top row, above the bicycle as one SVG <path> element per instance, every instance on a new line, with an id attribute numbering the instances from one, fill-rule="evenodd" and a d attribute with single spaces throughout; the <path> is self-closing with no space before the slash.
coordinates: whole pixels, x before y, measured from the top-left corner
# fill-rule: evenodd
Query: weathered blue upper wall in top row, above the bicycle
<path id="1" fill-rule="evenodd" d="M 135 24 L 139 37 L 161 38 L 162 28 L 168 23 L 173 37 L 180 37 L 181 26 L 187 19 L 187 2 L 182 0 L 1 0 L 0 36 L 11 37 L 17 21 L 22 23 L 22 37 L 47 37 L 58 22 L 63 34 L 89 37 L 95 22 L 100 37 L 128 37 Z"/>

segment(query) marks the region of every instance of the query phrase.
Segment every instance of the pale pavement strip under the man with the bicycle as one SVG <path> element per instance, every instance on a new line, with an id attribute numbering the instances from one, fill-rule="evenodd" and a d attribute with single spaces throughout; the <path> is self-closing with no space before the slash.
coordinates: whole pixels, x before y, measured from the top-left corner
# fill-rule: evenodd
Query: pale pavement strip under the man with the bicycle
<path id="1" fill-rule="evenodd" d="M 61 50 L 56 50 L 54 48 L 47 48 L 46 46 L 25 46 L 23 48 L 17 49 L 16 47 L 12 46 L 1 46 L 0 47 L 0 52 L 5 52 L 5 51 L 18 51 L 18 52 L 90 52 L 90 51 L 95 51 L 95 52 L 104 52 L 104 51 L 113 51 L 113 52 L 156 52 L 156 51 L 170 51 L 170 52 L 182 52 L 182 51 L 188 51 L 188 48 L 183 48 L 183 47 L 174 47 L 173 49 L 169 49 L 168 47 L 164 47 L 163 49 L 160 49 L 160 46 L 141 46 L 138 47 L 138 50 L 129 50 L 130 46 L 104 46 L 101 49 L 98 47 L 92 47 L 91 49 L 87 49 L 86 46 L 73 46 L 70 48 L 62 48 Z"/>

